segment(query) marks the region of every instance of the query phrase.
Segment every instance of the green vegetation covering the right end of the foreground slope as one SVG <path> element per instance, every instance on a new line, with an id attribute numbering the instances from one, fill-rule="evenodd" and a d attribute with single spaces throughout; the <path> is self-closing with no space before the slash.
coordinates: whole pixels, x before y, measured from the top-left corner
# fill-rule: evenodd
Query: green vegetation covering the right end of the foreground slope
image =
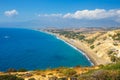
<path id="1" fill-rule="evenodd" d="M 78 80 L 120 80 L 120 62 L 100 65 L 98 70 L 90 70 L 78 77 Z"/>

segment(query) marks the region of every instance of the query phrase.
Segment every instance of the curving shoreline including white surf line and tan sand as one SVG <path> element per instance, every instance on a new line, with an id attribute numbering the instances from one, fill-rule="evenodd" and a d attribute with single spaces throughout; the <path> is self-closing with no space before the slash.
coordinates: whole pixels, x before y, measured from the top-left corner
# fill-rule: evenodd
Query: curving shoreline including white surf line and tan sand
<path id="1" fill-rule="evenodd" d="M 85 43 L 79 40 L 74 40 L 75 41 L 74 42 L 74 41 L 71 41 L 71 39 L 68 39 L 65 36 L 62 36 L 59 34 L 47 32 L 47 31 L 41 31 L 41 30 L 36 30 L 36 31 L 53 35 L 57 39 L 64 41 L 66 44 L 68 44 L 69 46 L 73 47 L 74 49 L 82 53 L 91 62 L 91 66 L 108 64 L 108 62 L 105 59 L 98 57 L 92 50 L 90 50 L 90 48 Z"/>

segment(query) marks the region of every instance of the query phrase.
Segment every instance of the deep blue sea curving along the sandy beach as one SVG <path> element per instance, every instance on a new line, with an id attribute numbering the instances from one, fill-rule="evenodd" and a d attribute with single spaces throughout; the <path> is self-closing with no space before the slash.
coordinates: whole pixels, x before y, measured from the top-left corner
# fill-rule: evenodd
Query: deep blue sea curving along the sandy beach
<path id="1" fill-rule="evenodd" d="M 0 71 L 77 65 L 91 66 L 91 62 L 56 36 L 30 29 L 0 28 Z"/>

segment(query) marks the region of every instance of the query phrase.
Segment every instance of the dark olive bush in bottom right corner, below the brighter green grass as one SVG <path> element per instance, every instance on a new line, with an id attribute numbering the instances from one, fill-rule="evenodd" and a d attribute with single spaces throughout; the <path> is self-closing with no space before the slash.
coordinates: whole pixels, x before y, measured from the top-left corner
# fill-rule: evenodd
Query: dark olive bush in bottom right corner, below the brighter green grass
<path id="1" fill-rule="evenodd" d="M 82 74 L 78 80 L 120 80 L 119 70 L 95 70 L 90 74 Z"/>

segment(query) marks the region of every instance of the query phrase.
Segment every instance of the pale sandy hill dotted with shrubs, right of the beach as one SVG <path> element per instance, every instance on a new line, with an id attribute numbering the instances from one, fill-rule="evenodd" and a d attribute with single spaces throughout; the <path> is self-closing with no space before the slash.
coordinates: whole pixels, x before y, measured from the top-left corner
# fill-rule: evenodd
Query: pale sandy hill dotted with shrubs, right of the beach
<path id="1" fill-rule="evenodd" d="M 85 43 L 97 56 L 115 62 L 120 57 L 120 30 L 83 34 Z"/>

